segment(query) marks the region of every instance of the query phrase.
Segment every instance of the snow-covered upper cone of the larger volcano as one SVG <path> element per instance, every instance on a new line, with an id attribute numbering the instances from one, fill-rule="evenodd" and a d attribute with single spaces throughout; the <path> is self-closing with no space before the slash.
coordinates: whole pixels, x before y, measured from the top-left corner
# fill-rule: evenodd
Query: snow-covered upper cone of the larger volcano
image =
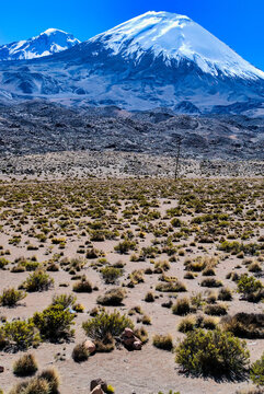
<path id="1" fill-rule="evenodd" d="M 172 59 L 195 62 L 203 72 L 227 77 L 264 78 L 226 44 L 216 38 L 190 18 L 169 12 L 150 11 L 134 18 L 88 43 L 101 42 L 113 55 L 140 61 L 146 51 L 157 58 L 162 56 L 167 65 Z"/>

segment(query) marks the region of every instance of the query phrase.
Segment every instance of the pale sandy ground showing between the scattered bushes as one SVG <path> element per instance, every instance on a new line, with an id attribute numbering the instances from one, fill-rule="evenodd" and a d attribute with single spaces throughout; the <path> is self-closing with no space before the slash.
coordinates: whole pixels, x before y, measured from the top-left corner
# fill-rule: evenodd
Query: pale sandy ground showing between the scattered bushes
<path id="1" fill-rule="evenodd" d="M 90 181 L 89 181 L 90 182 Z M 92 182 L 92 181 L 91 181 Z M 259 181 L 257 185 L 260 184 Z M 5 200 L 9 193 L 12 193 L 13 184 L 2 184 L 1 186 L 1 201 Z M 28 185 L 23 186 L 23 183 L 14 185 L 15 190 L 21 189 L 21 192 L 28 192 Z M 46 186 L 45 186 L 46 187 Z M 91 184 L 90 184 L 91 187 Z M 97 186 L 96 186 L 97 187 Z M 259 186 L 260 187 L 260 186 Z M 99 187 L 97 187 L 99 188 Z M 100 190 L 97 192 L 100 196 Z M 56 190 L 54 192 L 54 196 L 56 197 Z M 49 197 L 48 197 L 49 198 Z M 56 197 L 57 198 L 57 197 Z M 100 197 L 99 197 L 100 198 Z M 252 209 L 257 207 L 259 212 L 261 211 L 261 204 L 263 207 L 263 201 L 260 198 L 263 198 L 259 195 L 257 198 L 246 199 L 245 197 L 245 206 L 248 209 Z M 23 198 L 22 198 L 23 199 Z M 22 212 L 25 200 L 31 200 L 27 195 L 23 202 L 18 204 L 15 207 L 10 206 L 13 212 Z M 125 202 L 129 204 L 129 201 L 124 198 L 122 199 L 122 204 L 118 207 L 118 216 L 123 217 L 122 209 L 125 207 Z M 34 204 L 34 201 L 32 201 Z M 158 198 L 159 207 L 154 209 L 161 213 L 161 221 L 164 225 L 170 224 L 169 218 L 165 217 L 165 211 L 173 207 L 177 207 L 179 205 L 179 195 L 170 196 L 168 198 L 160 197 Z M 168 204 L 169 202 L 169 204 Z M 67 206 L 70 208 L 69 206 Z M 209 207 L 209 205 L 208 205 Z M 211 207 L 211 206 L 210 206 Z M 7 207 L 1 208 L 1 213 L 7 210 Z M 42 209 L 45 212 L 45 209 Z M 191 224 L 191 219 L 200 213 L 194 213 L 193 216 L 187 212 L 186 215 L 182 215 L 180 217 L 181 220 L 187 223 L 187 227 Z M 35 218 L 33 216 L 28 216 L 28 223 L 23 224 L 20 233 L 22 233 L 22 241 L 19 245 L 14 246 L 9 244 L 9 240 L 16 233 L 15 224 L 18 224 L 18 218 L 13 218 L 7 215 L 3 217 L 1 215 L 0 224 L 1 233 L 0 233 L 0 245 L 3 247 L 3 251 L 9 250 L 10 255 L 5 257 L 10 260 L 10 265 L 8 268 L 12 267 L 12 263 L 15 258 L 24 256 L 25 258 L 31 258 L 32 256 L 36 256 L 37 260 L 43 263 L 50 258 L 54 254 L 60 253 L 61 250 L 57 245 L 53 245 L 50 248 L 50 240 L 47 240 L 44 243 L 43 247 L 39 247 L 36 251 L 28 251 L 26 248 L 26 242 L 30 241 L 31 244 L 38 244 L 39 242 L 28 236 L 28 230 L 31 227 L 35 224 Z M 236 218 L 237 219 L 237 218 Z M 82 217 L 82 220 L 91 220 L 89 217 Z M 158 221 L 153 221 L 153 223 L 158 223 Z M 130 219 L 124 219 L 125 223 L 129 223 L 129 230 L 131 230 L 135 234 L 137 233 L 138 223 L 134 224 Z M 241 219 L 242 225 L 244 225 L 244 220 Z M 230 224 L 231 225 L 231 224 Z M 80 235 L 80 230 L 76 228 L 71 232 L 71 234 L 67 235 L 66 247 L 62 250 L 64 256 L 66 257 L 76 257 L 77 250 L 80 244 L 84 245 L 85 241 L 89 240 L 89 235 L 85 236 Z M 58 236 L 59 232 L 57 231 Z M 253 242 L 255 240 L 255 234 L 262 235 L 264 233 L 263 225 L 262 228 L 256 227 L 253 230 L 252 239 Z M 138 248 L 140 250 L 144 246 L 148 246 L 151 244 L 151 240 L 153 240 L 153 234 L 150 231 L 147 233 L 144 240 L 138 239 Z M 180 280 L 184 281 L 187 287 L 187 293 L 179 294 L 177 297 L 192 296 L 197 292 L 205 292 L 206 288 L 200 287 L 200 281 L 203 279 L 202 274 L 198 273 L 197 278 L 195 280 L 184 279 L 185 270 L 184 270 L 184 262 L 187 257 L 194 258 L 197 256 L 225 256 L 223 252 L 219 252 L 217 248 L 218 243 L 203 244 L 196 243 L 195 246 L 191 246 L 190 244 L 194 240 L 194 235 L 186 237 L 185 240 L 181 240 L 175 242 L 175 245 L 183 245 L 185 248 L 184 256 L 176 256 L 176 262 L 171 263 L 171 268 L 167 273 L 170 276 L 176 276 Z M 105 257 L 110 264 L 114 264 L 117 260 L 122 260 L 126 263 L 124 276 L 120 278 L 120 282 L 127 282 L 125 279 L 135 269 L 146 269 L 147 267 L 151 267 L 152 264 L 150 258 L 147 258 L 146 262 L 130 262 L 130 255 L 120 255 L 114 251 L 114 246 L 118 244 L 119 237 L 113 241 L 104 241 L 104 242 L 93 242 L 93 246 L 97 250 L 102 250 L 105 253 Z M 79 255 L 80 256 L 80 255 Z M 168 255 L 162 253 L 156 260 L 164 260 L 169 259 Z M 94 260 L 92 260 L 94 262 Z M 124 300 L 124 304 L 118 309 L 125 313 L 135 305 L 141 305 L 144 312 L 151 317 L 151 325 L 146 326 L 149 333 L 149 341 L 144 346 L 141 351 L 127 351 L 126 349 L 115 349 L 110 354 L 95 354 L 93 357 L 90 357 L 88 361 L 83 363 L 76 363 L 71 358 L 72 348 L 77 343 L 85 339 L 85 335 L 83 329 L 81 328 L 82 322 L 90 318 L 89 311 L 91 311 L 96 305 L 96 298 L 99 294 L 103 294 L 106 289 L 110 289 L 112 285 L 105 285 L 100 276 L 99 271 L 95 271 L 90 264 L 91 260 L 88 262 L 85 267 L 82 269 L 81 274 L 85 274 L 88 279 L 93 283 L 93 286 L 99 287 L 99 291 L 93 291 L 91 294 L 79 293 L 77 294 L 78 302 L 82 303 L 84 306 L 84 313 L 79 313 L 76 318 L 76 336 L 71 343 L 65 343 L 60 345 L 54 345 L 49 343 L 42 344 L 37 349 L 31 350 L 38 361 L 39 370 L 46 367 L 55 367 L 60 376 L 61 376 L 61 394 L 87 394 L 89 393 L 90 381 L 95 378 L 103 378 L 107 380 L 116 389 L 117 394 L 157 394 L 159 391 L 164 393 L 170 390 L 180 391 L 181 394 L 203 394 L 203 393 L 211 393 L 211 394 L 234 394 L 238 389 L 245 389 L 250 385 L 249 382 L 217 382 L 213 379 L 197 379 L 197 378 L 187 378 L 179 373 L 177 366 L 174 362 L 175 356 L 172 352 L 157 349 L 152 346 L 152 336 L 153 334 L 168 334 L 170 333 L 173 336 L 175 345 L 182 338 L 184 338 L 184 334 L 177 332 L 177 325 L 182 320 L 181 316 L 176 316 L 172 313 L 170 309 L 165 309 L 161 306 L 161 303 L 165 300 L 169 300 L 168 293 L 159 293 L 154 291 L 154 286 L 159 282 L 159 275 L 145 275 L 145 282 L 136 285 L 133 289 L 127 289 L 127 298 Z M 240 265 L 241 268 L 236 268 Z M 263 263 L 262 263 L 263 265 Z M 231 302 L 227 302 L 229 305 L 228 313 L 234 314 L 238 312 L 263 312 L 263 304 L 259 303 L 249 303 L 245 301 L 239 300 L 239 294 L 236 292 L 236 283 L 231 280 L 226 279 L 226 275 L 231 271 L 237 270 L 239 274 L 245 273 L 246 267 L 241 265 L 241 259 L 236 255 L 226 255 L 225 259 L 220 260 L 220 263 L 216 267 L 216 277 L 217 279 L 222 280 L 225 286 L 228 286 L 233 290 L 233 300 Z M 22 281 L 30 275 L 31 273 L 20 273 L 14 274 L 9 269 L 0 270 L 0 290 L 8 287 L 19 287 Z M 54 289 L 43 292 L 33 292 L 28 293 L 26 299 L 23 300 L 16 308 L 8 309 L 0 308 L 0 315 L 7 316 L 10 321 L 12 318 L 27 318 L 33 315 L 35 311 L 42 311 L 51 302 L 51 298 L 54 294 L 59 293 L 70 293 L 72 289 L 73 281 L 68 273 L 60 270 L 58 273 L 49 273 L 49 275 L 55 279 Z M 66 288 L 59 287 L 60 283 L 68 283 L 69 286 Z M 157 296 L 157 300 L 153 303 L 147 303 L 144 301 L 145 294 L 152 290 Z M 218 291 L 218 290 L 217 290 Z M 108 311 L 114 310 L 114 308 L 107 308 Z M 136 323 L 136 316 L 131 316 L 133 321 Z M 264 350 L 263 340 L 246 340 L 249 350 L 251 352 L 251 360 L 256 360 L 261 357 Z M 21 356 L 22 352 L 18 354 L 7 354 L 4 351 L 0 352 L 0 366 L 4 367 L 4 373 L 0 375 L 0 387 L 8 393 L 11 386 L 18 382 L 20 379 L 15 378 L 12 373 L 12 364 L 14 360 Z M 59 356 L 58 356 L 59 355 Z M 62 360 L 60 360 L 60 356 L 62 356 Z"/>

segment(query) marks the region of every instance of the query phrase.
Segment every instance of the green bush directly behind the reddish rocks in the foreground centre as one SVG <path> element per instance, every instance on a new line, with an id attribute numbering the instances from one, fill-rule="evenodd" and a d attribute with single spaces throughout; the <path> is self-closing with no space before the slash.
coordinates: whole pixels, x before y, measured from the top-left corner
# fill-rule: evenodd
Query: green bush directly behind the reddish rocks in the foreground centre
<path id="1" fill-rule="evenodd" d="M 126 327 L 133 329 L 133 321 L 117 311 L 111 314 L 103 311 L 82 324 L 87 336 L 99 340 L 104 339 L 107 334 L 111 334 L 113 337 L 119 336 Z"/>

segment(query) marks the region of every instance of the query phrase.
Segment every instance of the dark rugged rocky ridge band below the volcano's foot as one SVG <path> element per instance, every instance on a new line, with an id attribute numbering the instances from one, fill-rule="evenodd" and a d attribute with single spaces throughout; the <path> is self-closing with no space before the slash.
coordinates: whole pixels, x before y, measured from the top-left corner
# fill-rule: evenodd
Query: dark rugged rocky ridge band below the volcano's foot
<path id="1" fill-rule="evenodd" d="M 165 108 L 69 109 L 43 101 L 0 107 L 1 155 L 78 150 L 174 155 L 177 136 L 188 159 L 264 159 L 261 118 L 175 115 Z"/>

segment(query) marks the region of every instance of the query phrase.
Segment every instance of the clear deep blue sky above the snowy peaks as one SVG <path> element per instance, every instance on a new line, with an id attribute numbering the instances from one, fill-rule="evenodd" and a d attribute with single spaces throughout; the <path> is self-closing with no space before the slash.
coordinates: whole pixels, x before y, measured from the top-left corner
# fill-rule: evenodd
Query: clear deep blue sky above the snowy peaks
<path id="1" fill-rule="evenodd" d="M 150 10 L 188 15 L 264 70 L 264 0 L 0 0 L 0 44 L 48 27 L 84 40 Z"/>

